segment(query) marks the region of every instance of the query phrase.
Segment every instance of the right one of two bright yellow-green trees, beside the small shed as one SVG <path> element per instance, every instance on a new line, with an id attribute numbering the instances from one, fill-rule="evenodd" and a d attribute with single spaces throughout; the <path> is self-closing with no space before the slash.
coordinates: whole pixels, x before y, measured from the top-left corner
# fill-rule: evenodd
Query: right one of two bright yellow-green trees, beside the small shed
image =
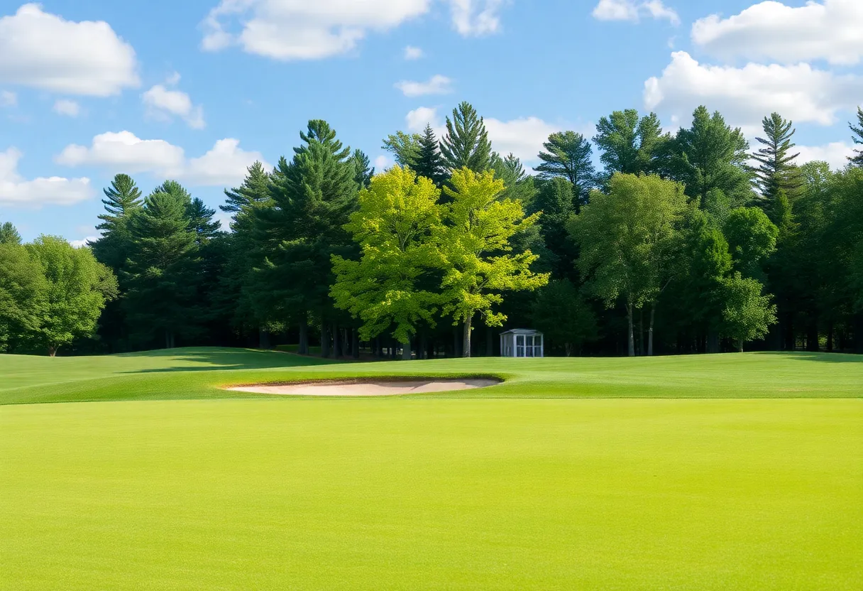
<path id="1" fill-rule="evenodd" d="M 475 173 L 462 168 L 453 173 L 444 192 L 452 202 L 444 214 L 445 226 L 436 232 L 444 270 L 444 315 L 464 322 L 463 353 L 470 356 L 471 323 L 482 315 L 486 326 L 501 326 L 506 315 L 494 311 L 502 292 L 537 289 L 548 275 L 534 273 L 537 259 L 531 251 L 513 254 L 511 240 L 536 224 L 539 214 L 526 216 L 521 203 L 499 199 L 503 181 L 494 172 Z"/>

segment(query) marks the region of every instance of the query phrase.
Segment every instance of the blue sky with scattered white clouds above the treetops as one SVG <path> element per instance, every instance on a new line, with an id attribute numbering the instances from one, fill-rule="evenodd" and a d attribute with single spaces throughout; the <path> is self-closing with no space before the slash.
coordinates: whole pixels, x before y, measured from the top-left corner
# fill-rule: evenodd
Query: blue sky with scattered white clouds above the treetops
<path id="1" fill-rule="evenodd" d="M 861 29 L 860 0 L 0 0 L 0 221 L 94 236 L 118 172 L 215 207 L 309 118 L 386 165 L 382 137 L 463 99 L 527 163 L 615 109 L 673 130 L 705 104 L 748 137 L 779 111 L 838 166 Z"/>

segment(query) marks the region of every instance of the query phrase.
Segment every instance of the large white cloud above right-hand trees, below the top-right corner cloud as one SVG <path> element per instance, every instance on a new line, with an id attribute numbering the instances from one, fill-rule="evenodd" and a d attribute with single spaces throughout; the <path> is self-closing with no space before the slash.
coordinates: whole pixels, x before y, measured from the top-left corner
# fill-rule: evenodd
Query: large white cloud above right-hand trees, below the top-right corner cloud
<path id="1" fill-rule="evenodd" d="M 832 125 L 837 111 L 851 111 L 863 95 L 863 78 L 835 75 L 808 64 L 745 67 L 709 66 L 690 54 L 671 54 L 662 75 L 645 82 L 649 110 L 662 109 L 687 118 L 698 105 L 721 111 L 735 125 L 758 126 L 778 111 L 796 123 Z"/>

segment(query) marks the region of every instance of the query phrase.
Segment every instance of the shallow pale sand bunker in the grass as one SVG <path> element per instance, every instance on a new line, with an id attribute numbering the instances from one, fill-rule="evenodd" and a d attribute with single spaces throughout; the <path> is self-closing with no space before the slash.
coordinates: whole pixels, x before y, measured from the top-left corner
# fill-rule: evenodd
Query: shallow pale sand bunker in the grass
<path id="1" fill-rule="evenodd" d="M 395 396 L 398 394 L 471 390 L 494 384 L 500 384 L 500 380 L 488 378 L 429 378 L 413 381 L 378 379 L 365 382 L 306 382 L 303 384 L 236 386 L 228 390 L 291 396 Z"/>

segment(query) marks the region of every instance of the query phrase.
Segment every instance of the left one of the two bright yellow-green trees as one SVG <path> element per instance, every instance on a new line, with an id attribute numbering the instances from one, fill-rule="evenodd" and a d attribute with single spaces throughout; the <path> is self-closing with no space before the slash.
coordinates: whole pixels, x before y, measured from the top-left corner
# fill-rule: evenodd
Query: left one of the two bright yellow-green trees
<path id="1" fill-rule="evenodd" d="M 439 196 L 430 179 L 399 166 L 360 192 L 346 228 L 362 255 L 358 261 L 333 256 L 331 295 L 338 308 L 362 320 L 363 340 L 392 329 L 409 353 L 418 323 L 434 326 L 440 296 L 425 287 L 437 262 L 432 232 L 441 222 Z"/>

